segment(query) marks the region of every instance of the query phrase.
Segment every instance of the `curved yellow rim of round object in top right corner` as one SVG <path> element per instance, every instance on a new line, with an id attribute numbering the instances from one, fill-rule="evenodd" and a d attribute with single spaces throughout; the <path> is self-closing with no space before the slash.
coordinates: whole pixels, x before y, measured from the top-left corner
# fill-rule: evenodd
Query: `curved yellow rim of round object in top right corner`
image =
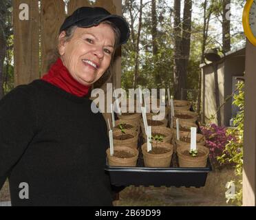
<path id="1" fill-rule="evenodd" d="M 256 38 L 250 28 L 250 8 L 253 5 L 253 0 L 247 0 L 246 4 L 244 5 L 243 11 L 243 27 L 244 27 L 244 34 L 247 36 L 247 39 L 256 46 Z"/>

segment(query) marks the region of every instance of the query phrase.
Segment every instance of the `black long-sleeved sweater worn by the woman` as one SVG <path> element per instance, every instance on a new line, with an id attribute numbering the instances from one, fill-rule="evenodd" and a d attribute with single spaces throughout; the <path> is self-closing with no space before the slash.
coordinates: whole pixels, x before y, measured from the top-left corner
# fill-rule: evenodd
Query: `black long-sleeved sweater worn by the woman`
<path id="1" fill-rule="evenodd" d="M 12 206 L 111 206 L 107 126 L 91 104 L 43 80 L 0 100 L 0 189 L 8 177 Z"/>

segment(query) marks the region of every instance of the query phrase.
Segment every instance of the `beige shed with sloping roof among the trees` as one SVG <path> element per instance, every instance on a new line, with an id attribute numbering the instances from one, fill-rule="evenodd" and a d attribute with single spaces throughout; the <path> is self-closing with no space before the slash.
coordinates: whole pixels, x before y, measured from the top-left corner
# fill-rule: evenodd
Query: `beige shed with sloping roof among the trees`
<path id="1" fill-rule="evenodd" d="M 245 52 L 245 47 L 240 47 L 224 54 L 219 61 L 200 65 L 203 123 L 208 122 L 214 115 L 212 122 L 231 126 L 231 118 L 236 115 L 237 109 L 232 105 L 233 98 L 228 97 L 235 91 L 239 78 L 244 78 Z"/>

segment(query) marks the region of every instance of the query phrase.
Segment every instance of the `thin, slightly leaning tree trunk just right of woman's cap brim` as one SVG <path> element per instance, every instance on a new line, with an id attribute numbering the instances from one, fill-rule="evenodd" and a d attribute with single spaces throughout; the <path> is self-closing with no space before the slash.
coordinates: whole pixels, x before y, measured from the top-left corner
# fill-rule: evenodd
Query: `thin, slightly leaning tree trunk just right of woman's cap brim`
<path id="1" fill-rule="evenodd" d="M 140 0 L 140 10 L 139 10 L 139 23 L 138 23 L 138 35 L 136 39 L 136 52 L 135 52 L 135 67 L 134 67 L 134 89 L 138 85 L 138 67 L 139 67 L 139 52 L 140 52 L 140 31 L 142 25 L 142 0 Z"/>

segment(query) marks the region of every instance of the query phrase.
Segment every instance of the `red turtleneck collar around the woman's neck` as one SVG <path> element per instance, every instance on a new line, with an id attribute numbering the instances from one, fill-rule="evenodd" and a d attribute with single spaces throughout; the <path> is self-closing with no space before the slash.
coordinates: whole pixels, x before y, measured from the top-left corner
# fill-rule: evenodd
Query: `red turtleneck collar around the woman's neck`
<path id="1" fill-rule="evenodd" d="M 74 80 L 70 72 L 68 72 L 67 68 L 63 65 L 61 58 L 58 58 L 50 67 L 47 74 L 41 79 L 78 97 L 86 96 L 90 89 L 90 87 Z"/>

